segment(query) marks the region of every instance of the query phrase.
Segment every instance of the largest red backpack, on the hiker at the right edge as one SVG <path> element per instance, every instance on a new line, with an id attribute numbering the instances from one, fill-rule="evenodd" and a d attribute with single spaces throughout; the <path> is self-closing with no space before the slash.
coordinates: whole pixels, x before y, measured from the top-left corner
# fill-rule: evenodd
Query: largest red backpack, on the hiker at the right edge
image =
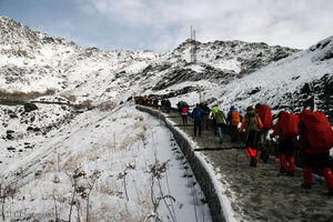
<path id="1" fill-rule="evenodd" d="M 333 130 L 323 112 L 309 113 L 302 120 L 309 131 L 307 140 L 312 149 L 325 152 L 333 147 Z"/>

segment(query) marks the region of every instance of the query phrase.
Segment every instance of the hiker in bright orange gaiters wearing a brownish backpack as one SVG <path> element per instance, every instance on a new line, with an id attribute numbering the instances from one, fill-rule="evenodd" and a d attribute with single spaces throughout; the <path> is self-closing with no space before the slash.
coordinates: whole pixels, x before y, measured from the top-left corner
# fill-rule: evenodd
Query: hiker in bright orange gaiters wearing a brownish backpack
<path id="1" fill-rule="evenodd" d="M 245 129 L 245 145 L 246 153 L 250 158 L 250 167 L 256 167 L 258 163 L 258 142 L 260 139 L 260 131 L 262 123 L 252 107 L 246 108 L 246 114 L 242 120 L 240 132 Z"/>

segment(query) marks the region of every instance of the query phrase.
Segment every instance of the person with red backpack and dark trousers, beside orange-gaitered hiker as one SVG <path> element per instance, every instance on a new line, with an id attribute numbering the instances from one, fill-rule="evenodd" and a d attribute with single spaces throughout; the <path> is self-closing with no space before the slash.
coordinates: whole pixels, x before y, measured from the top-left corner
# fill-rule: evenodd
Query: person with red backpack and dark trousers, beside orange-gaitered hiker
<path id="1" fill-rule="evenodd" d="M 266 147 L 266 138 L 269 131 L 273 128 L 273 117 L 269 105 L 258 103 L 255 105 L 255 111 L 259 114 L 260 120 L 262 121 L 263 128 L 261 129 L 259 147 L 261 150 L 261 159 L 264 162 L 268 162 L 270 155 Z"/>

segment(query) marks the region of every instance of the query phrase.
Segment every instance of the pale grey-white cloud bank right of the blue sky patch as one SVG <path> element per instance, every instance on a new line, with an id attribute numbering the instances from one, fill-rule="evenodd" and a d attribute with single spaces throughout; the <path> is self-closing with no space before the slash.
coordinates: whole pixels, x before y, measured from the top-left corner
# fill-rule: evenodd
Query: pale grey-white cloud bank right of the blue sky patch
<path id="1" fill-rule="evenodd" d="M 123 26 L 150 29 L 155 40 L 145 44 L 150 43 L 160 50 L 174 48 L 180 43 L 178 41 L 184 40 L 180 37 L 189 37 L 191 23 L 198 30 L 201 41 L 239 39 L 294 48 L 310 47 L 320 40 L 319 38 L 332 34 L 327 28 L 331 27 L 332 30 L 333 27 L 331 0 L 84 0 L 84 2 Z M 82 10 L 87 11 L 84 7 Z M 171 31 L 174 28 L 179 31 Z"/>

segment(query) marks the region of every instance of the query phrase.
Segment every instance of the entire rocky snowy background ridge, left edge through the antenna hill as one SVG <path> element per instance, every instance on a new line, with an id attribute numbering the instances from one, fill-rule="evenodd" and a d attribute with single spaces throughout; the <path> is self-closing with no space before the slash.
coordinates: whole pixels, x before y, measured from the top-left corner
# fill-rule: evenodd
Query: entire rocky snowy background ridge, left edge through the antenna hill
<path id="1" fill-rule="evenodd" d="M 2 89 L 28 92 L 52 88 L 95 102 L 122 94 L 130 97 L 134 90 L 137 94 L 148 89 L 163 90 L 184 81 L 228 83 L 240 72 L 251 73 L 297 51 L 241 41 L 195 42 L 199 62 L 193 65 L 189 63 L 194 43 L 191 40 L 163 56 L 150 51 L 82 49 L 7 17 L 0 20 L 0 49 L 6 49 L 0 53 Z M 18 50 L 24 53 L 17 53 Z"/>

